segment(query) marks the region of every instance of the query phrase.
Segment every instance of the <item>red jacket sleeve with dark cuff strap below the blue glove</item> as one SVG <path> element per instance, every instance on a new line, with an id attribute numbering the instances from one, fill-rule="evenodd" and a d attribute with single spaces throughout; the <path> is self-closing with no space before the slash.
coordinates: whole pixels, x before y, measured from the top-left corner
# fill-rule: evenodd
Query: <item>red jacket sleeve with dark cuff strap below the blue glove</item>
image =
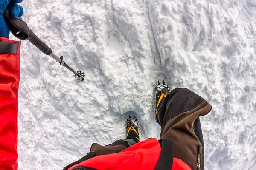
<path id="1" fill-rule="evenodd" d="M 17 54 L 0 54 L 0 169 L 17 170 L 17 116 L 20 81 L 20 41 Z"/>

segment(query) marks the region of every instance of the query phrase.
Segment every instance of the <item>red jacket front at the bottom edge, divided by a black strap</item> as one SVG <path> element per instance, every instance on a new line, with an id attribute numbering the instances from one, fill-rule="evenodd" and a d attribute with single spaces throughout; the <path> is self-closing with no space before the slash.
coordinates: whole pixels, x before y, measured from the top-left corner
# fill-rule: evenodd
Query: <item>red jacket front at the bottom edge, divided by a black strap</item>
<path id="1" fill-rule="evenodd" d="M 92 167 L 97 170 L 154 170 L 161 153 L 161 146 L 156 138 L 148 139 L 119 153 L 96 156 L 70 167 Z M 182 160 L 174 158 L 172 170 L 191 170 Z"/>

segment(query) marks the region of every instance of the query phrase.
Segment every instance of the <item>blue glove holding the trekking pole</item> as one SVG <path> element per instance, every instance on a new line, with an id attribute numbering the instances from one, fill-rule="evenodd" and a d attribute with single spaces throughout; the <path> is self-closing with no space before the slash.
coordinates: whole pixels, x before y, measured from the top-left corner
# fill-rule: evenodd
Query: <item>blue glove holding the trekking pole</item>
<path id="1" fill-rule="evenodd" d="M 0 0 L 0 37 L 9 38 L 10 30 L 6 25 L 3 13 L 7 6 L 11 13 L 11 17 L 17 18 L 23 15 L 23 8 L 17 3 L 21 3 L 22 0 Z"/>

